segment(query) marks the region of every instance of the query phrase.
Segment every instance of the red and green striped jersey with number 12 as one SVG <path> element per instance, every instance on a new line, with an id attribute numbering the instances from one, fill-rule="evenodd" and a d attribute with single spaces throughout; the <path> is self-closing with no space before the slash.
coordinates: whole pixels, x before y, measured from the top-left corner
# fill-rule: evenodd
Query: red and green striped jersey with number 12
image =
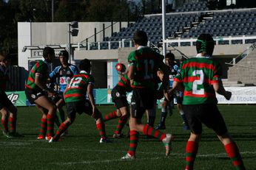
<path id="1" fill-rule="evenodd" d="M 64 93 L 65 102 L 79 102 L 84 101 L 87 93 L 87 86 L 94 85 L 94 78 L 86 71 L 80 71 L 70 79 Z"/>

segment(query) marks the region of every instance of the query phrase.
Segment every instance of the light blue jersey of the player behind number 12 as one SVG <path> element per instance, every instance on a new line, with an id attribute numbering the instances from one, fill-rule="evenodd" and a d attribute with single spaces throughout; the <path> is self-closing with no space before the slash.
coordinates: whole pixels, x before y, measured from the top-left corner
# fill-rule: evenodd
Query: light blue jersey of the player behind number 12
<path id="1" fill-rule="evenodd" d="M 78 73 L 78 68 L 75 65 L 68 64 L 67 67 L 64 67 L 63 65 L 55 67 L 49 76 L 51 79 L 56 79 L 58 85 L 57 91 L 64 92 L 70 81 L 70 78 Z"/>

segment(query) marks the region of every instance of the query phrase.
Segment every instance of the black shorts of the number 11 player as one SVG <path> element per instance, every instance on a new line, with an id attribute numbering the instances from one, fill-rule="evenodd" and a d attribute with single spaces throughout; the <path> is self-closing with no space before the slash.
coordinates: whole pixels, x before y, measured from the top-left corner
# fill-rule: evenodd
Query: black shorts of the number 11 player
<path id="1" fill-rule="evenodd" d="M 152 89 L 133 89 L 131 99 L 132 118 L 141 119 L 146 110 L 154 108 L 155 99 L 155 91 Z"/>

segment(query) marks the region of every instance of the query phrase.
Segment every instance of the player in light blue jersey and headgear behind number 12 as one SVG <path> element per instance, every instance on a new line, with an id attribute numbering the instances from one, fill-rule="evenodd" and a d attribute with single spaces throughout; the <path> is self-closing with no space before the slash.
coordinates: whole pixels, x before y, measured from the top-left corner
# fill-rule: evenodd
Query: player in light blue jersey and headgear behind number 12
<path id="1" fill-rule="evenodd" d="M 61 125 L 59 121 L 61 121 L 61 123 L 65 121 L 65 114 L 64 110 L 62 109 L 62 107 L 65 105 L 63 92 L 70 81 L 70 77 L 73 77 L 74 74 L 78 74 L 78 68 L 75 65 L 68 63 L 69 54 L 66 50 L 61 50 L 61 52 L 59 52 L 59 60 L 61 65 L 55 67 L 49 75 L 53 82 L 57 82 L 58 95 L 53 98 L 53 101 L 57 106 L 56 115 L 58 116 L 58 120 L 56 119 L 55 122 L 58 127 Z"/>

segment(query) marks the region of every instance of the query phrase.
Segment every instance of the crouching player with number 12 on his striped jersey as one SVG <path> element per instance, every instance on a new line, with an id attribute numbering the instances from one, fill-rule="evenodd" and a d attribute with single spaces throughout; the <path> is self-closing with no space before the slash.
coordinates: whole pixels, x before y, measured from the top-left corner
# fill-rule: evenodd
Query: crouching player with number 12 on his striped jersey
<path id="1" fill-rule="evenodd" d="M 65 132 L 68 127 L 75 121 L 76 113 L 86 113 L 87 115 L 95 118 L 96 127 L 101 135 L 100 143 L 108 143 L 110 140 L 107 138 L 105 132 L 105 124 L 101 116 L 101 112 L 95 106 L 93 96 L 94 78 L 90 74 L 91 64 L 90 60 L 84 59 L 79 63 L 80 73 L 75 74 L 67 85 L 64 91 L 64 99 L 67 107 L 67 119 L 58 127 L 55 136 L 51 138 L 50 143 L 58 141 L 61 133 Z M 85 99 L 86 94 L 89 101 Z"/>

